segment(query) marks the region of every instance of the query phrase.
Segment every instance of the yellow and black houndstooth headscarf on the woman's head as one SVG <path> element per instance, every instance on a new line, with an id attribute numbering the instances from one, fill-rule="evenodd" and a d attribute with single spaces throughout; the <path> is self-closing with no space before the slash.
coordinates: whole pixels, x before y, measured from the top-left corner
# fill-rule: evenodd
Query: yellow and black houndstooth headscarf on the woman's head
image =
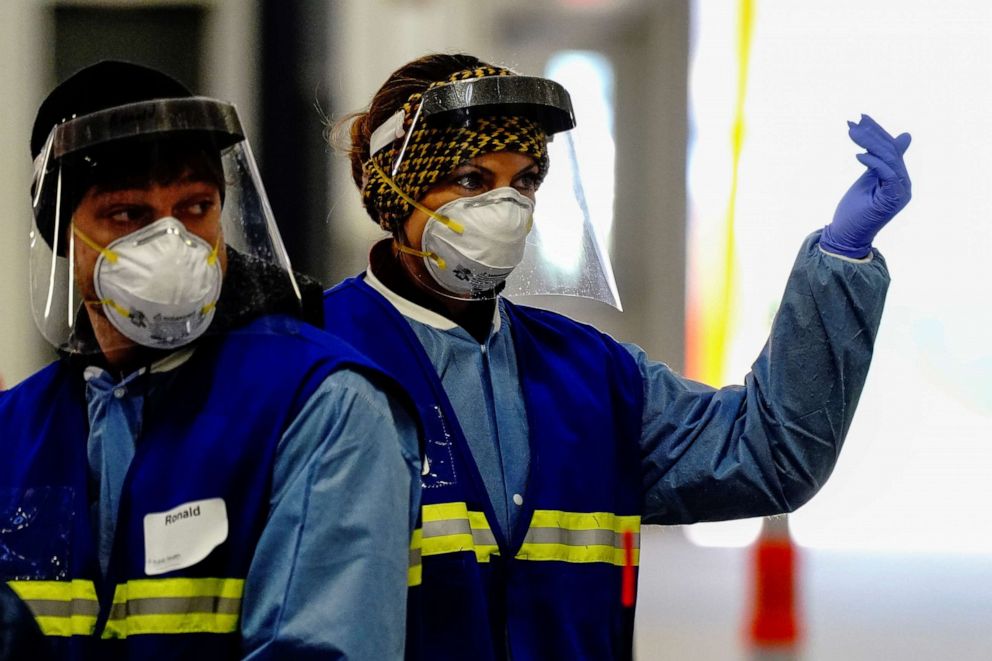
<path id="1" fill-rule="evenodd" d="M 515 74 L 509 69 L 484 66 L 456 72 L 447 80 L 431 83 L 427 89 L 458 80 L 512 75 Z M 409 131 L 422 97 L 423 92 L 413 94 L 403 105 L 404 131 Z M 402 140 L 394 141 L 363 165 L 362 202 L 372 219 L 389 231 L 413 212 L 413 207 L 383 178 L 392 169 L 402 143 Z M 465 161 L 501 151 L 532 156 L 540 169 L 539 176 L 543 178 L 547 173 L 547 137 L 540 125 L 519 115 L 491 115 L 478 117 L 467 126 L 432 127 L 420 123 L 410 136 L 393 182 L 407 196 L 419 201 L 431 186 Z M 378 168 L 373 165 L 373 159 Z"/>

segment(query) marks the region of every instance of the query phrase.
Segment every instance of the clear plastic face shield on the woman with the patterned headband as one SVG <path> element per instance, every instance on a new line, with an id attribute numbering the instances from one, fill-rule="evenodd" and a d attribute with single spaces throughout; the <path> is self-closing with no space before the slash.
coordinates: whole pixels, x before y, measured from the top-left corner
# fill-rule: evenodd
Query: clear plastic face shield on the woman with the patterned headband
<path id="1" fill-rule="evenodd" d="M 543 129 L 551 143 L 551 167 L 543 182 L 534 182 L 536 189 L 527 183 L 502 184 L 495 190 L 480 190 L 478 195 L 462 192 L 462 196 L 472 196 L 447 201 L 436 209 L 419 202 L 432 199 L 444 179 L 421 200 L 411 200 L 393 189 L 421 213 L 430 212 L 421 250 L 412 251 L 424 260 L 428 275 L 419 276 L 422 285 L 463 299 L 493 298 L 499 293 L 509 297 L 558 294 L 621 308 L 608 252 L 585 202 L 569 133 L 575 120 L 564 87 L 527 76 L 475 78 L 427 90 L 413 112 L 409 129 L 403 129 L 405 117 L 400 111 L 371 137 L 373 156 L 387 147 L 397 150 L 389 171 L 379 173 L 391 186 L 404 160 L 414 160 L 408 146 L 420 127 L 471 127 L 480 117 L 522 117 Z M 469 163 L 485 156 L 483 148 Z M 379 167 L 375 159 L 372 163 Z"/>

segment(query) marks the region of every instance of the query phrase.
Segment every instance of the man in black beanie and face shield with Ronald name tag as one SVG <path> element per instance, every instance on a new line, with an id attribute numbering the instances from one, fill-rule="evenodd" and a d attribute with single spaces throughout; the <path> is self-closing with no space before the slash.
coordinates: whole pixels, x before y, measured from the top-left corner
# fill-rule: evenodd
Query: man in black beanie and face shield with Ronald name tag
<path id="1" fill-rule="evenodd" d="M 60 359 L 0 393 L 0 579 L 54 656 L 400 654 L 415 426 L 307 323 L 234 107 L 103 62 L 31 147 Z"/>

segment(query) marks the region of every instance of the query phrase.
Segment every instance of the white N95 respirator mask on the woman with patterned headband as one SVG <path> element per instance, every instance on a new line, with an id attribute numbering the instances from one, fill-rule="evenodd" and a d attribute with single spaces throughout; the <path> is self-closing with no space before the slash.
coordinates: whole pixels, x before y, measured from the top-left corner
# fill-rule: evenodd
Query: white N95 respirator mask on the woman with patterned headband
<path id="1" fill-rule="evenodd" d="M 523 260 L 533 217 L 533 200 L 514 188 L 452 200 L 424 226 L 424 264 L 452 294 L 490 292 Z"/>

